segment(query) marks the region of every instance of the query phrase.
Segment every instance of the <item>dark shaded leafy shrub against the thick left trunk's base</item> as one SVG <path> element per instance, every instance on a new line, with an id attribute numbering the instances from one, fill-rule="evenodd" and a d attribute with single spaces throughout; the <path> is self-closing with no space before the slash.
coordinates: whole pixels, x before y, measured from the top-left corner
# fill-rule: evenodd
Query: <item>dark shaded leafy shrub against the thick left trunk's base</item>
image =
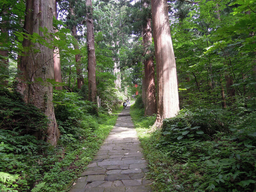
<path id="1" fill-rule="evenodd" d="M 22 96 L 13 89 L 0 88 L 0 113 L 0 125 L 4 129 L 41 135 L 47 128 L 45 115 L 35 106 L 26 105 Z"/>

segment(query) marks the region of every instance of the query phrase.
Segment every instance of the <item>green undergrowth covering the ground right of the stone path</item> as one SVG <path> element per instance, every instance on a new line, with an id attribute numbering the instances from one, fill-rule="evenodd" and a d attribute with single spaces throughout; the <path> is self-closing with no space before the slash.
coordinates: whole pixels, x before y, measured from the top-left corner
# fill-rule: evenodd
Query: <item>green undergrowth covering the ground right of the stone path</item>
<path id="1" fill-rule="evenodd" d="M 256 190 L 256 112 L 227 113 L 181 110 L 164 120 L 162 130 L 148 132 L 155 117 L 144 117 L 143 109 L 131 107 L 155 191 Z"/>

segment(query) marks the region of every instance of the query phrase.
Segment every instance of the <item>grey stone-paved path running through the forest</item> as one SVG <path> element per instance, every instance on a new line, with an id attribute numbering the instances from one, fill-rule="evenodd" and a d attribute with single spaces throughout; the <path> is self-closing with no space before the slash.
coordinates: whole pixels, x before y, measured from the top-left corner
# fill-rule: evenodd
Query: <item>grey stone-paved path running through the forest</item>
<path id="1" fill-rule="evenodd" d="M 133 128 L 130 106 L 119 115 L 94 161 L 69 192 L 150 192 L 152 180 Z"/>

